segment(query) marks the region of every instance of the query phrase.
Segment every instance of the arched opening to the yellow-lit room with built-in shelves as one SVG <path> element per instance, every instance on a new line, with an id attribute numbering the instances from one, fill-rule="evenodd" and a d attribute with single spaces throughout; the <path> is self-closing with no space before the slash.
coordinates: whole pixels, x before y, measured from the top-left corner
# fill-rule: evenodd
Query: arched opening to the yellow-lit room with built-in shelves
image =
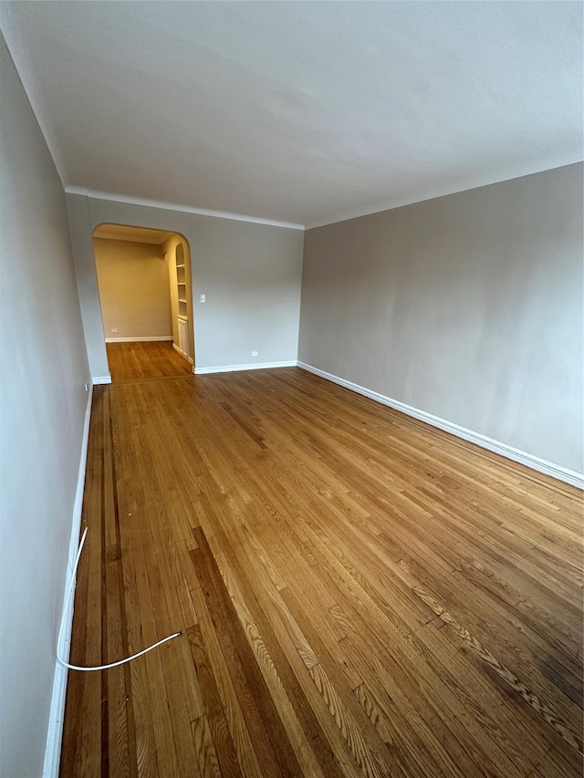
<path id="1" fill-rule="evenodd" d="M 112 380 L 190 375 L 195 348 L 186 238 L 103 223 L 93 231 L 93 250 Z"/>

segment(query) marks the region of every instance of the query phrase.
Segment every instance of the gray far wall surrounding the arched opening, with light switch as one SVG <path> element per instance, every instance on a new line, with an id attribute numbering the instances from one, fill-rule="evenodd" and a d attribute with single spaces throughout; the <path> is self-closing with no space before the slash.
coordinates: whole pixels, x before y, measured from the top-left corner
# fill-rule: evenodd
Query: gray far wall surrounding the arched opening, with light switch
<path id="1" fill-rule="evenodd" d="M 81 194 L 67 201 L 93 376 L 109 372 L 90 240 L 102 223 L 168 230 L 188 241 L 197 369 L 296 360 L 302 231 Z"/>

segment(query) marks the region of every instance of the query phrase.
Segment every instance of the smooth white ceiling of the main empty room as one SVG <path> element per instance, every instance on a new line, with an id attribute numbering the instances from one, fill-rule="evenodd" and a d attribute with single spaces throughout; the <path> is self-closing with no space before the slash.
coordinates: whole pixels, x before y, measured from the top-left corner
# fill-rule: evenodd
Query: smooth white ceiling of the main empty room
<path id="1" fill-rule="evenodd" d="M 582 159 L 578 2 L 16 2 L 66 185 L 308 226 Z"/>

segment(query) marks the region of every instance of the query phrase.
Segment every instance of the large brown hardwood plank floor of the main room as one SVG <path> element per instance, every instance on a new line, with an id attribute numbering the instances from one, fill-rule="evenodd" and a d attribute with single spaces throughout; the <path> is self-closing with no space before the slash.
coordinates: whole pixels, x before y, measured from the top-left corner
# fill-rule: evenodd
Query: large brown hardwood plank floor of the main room
<path id="1" fill-rule="evenodd" d="M 61 775 L 579 776 L 582 495 L 297 368 L 97 388 Z"/>

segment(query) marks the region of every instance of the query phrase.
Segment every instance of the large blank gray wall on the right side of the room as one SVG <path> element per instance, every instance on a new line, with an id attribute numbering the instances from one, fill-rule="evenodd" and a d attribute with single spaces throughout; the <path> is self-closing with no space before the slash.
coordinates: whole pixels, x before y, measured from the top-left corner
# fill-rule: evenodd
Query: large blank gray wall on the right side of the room
<path id="1" fill-rule="evenodd" d="M 582 165 L 309 230 L 298 358 L 582 472 Z"/>

